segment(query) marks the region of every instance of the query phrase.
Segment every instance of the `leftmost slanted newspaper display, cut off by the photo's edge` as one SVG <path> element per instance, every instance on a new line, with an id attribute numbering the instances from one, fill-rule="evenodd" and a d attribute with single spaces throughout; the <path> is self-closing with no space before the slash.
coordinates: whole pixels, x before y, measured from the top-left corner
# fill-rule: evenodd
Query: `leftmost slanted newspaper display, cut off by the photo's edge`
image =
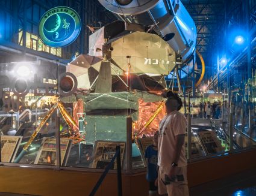
<path id="1" fill-rule="evenodd" d="M 22 136 L 1 135 L 1 162 L 13 162 Z"/>

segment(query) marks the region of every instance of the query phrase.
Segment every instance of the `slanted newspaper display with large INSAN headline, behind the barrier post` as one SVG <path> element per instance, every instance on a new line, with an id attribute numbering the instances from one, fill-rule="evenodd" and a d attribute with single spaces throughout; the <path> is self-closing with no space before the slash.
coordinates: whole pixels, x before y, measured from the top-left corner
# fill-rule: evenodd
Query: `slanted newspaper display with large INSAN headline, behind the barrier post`
<path id="1" fill-rule="evenodd" d="M 114 154 L 116 153 L 116 146 L 120 146 L 121 154 L 121 165 L 123 163 L 123 157 L 125 153 L 125 142 L 123 141 L 96 141 L 95 146 L 93 147 L 93 162 L 92 168 L 105 169 L 110 163 Z M 116 169 L 116 159 L 114 161 L 113 167 L 111 170 Z"/>

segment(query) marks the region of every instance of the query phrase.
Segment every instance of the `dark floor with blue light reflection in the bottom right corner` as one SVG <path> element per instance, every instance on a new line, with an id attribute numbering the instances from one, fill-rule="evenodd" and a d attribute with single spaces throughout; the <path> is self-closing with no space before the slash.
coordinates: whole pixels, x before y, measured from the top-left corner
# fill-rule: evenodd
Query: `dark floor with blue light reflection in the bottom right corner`
<path id="1" fill-rule="evenodd" d="M 256 168 L 190 188 L 190 196 L 256 196 Z"/>

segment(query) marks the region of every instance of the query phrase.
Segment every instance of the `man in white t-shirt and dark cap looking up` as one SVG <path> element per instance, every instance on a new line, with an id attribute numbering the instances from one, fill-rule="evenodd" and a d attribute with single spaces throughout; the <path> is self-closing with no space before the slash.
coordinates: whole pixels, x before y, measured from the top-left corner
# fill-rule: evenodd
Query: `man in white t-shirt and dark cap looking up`
<path id="1" fill-rule="evenodd" d="M 160 195 L 187 196 L 187 159 L 185 132 L 187 120 L 178 110 L 181 98 L 167 93 L 166 116 L 160 122 L 158 136 L 158 192 Z"/>

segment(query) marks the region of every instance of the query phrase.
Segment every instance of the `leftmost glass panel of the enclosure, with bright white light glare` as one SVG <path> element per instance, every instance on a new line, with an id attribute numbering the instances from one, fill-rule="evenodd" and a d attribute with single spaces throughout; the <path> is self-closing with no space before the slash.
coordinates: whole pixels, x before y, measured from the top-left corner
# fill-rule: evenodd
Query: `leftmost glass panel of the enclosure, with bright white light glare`
<path id="1" fill-rule="evenodd" d="M 1 161 L 56 165 L 56 98 L 49 93 L 53 86 L 48 86 L 46 92 L 43 79 L 51 76 L 57 80 L 57 66 L 48 62 L 41 62 L 40 66 L 37 62 L 14 62 L 0 67 Z"/>

